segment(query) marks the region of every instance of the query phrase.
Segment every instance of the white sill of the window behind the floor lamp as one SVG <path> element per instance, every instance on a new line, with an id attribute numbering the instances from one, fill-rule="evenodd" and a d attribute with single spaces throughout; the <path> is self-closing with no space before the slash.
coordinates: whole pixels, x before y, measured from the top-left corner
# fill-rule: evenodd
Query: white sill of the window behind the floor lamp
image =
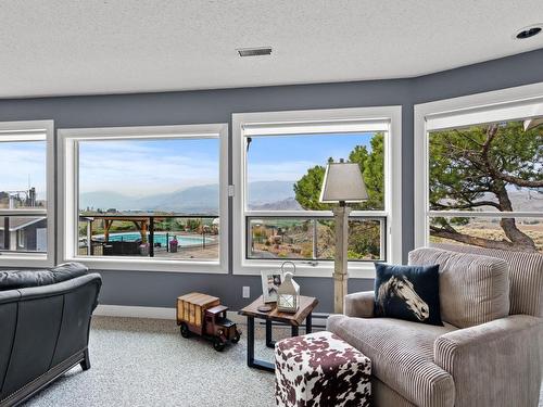
<path id="1" fill-rule="evenodd" d="M 298 277 L 321 277 L 331 278 L 333 274 L 333 262 L 323 262 L 317 266 L 310 266 L 301 262 L 294 262 L 296 265 L 295 276 Z M 236 267 L 233 275 L 239 276 L 261 276 L 262 270 L 276 269 L 281 267 L 280 262 L 247 260 L 241 267 Z M 290 270 L 290 268 L 288 269 Z M 372 263 L 349 264 L 349 278 L 375 278 L 375 266 Z"/>

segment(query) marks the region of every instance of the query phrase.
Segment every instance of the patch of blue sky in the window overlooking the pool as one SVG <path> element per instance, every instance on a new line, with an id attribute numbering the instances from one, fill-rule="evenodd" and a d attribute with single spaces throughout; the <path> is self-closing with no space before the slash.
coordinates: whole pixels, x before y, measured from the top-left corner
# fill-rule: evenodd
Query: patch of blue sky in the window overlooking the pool
<path id="1" fill-rule="evenodd" d="M 217 139 L 79 143 L 79 191 L 143 196 L 217 183 Z"/>

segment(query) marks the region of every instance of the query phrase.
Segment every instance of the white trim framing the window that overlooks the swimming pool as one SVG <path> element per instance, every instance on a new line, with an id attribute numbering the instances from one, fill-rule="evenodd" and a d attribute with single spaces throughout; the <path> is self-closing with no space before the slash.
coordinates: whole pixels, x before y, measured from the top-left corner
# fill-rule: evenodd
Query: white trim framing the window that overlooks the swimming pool
<path id="1" fill-rule="evenodd" d="M 105 128 L 59 129 L 59 258 L 63 262 L 81 262 L 91 269 L 166 271 L 166 272 L 228 272 L 228 125 L 137 126 Z M 181 139 L 218 138 L 219 140 L 219 259 L 218 260 L 162 260 L 136 257 L 77 256 L 77 154 L 81 140 L 108 139 Z"/>

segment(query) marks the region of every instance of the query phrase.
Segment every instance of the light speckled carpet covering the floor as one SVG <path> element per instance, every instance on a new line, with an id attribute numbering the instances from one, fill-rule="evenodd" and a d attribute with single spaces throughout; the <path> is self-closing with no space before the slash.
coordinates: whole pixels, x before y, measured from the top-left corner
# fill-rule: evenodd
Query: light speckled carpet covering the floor
<path id="1" fill-rule="evenodd" d="M 244 333 L 218 353 L 207 341 L 181 338 L 173 321 L 94 317 L 91 369 L 72 369 L 25 406 L 273 407 L 275 377 L 247 367 Z M 279 339 L 288 333 L 274 329 Z M 273 360 L 263 328 L 256 336 L 255 356 Z"/>

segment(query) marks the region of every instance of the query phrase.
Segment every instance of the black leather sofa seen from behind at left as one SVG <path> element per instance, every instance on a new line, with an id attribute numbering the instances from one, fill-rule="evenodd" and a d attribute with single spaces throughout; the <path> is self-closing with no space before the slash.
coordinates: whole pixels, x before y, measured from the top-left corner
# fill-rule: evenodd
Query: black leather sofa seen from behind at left
<path id="1" fill-rule="evenodd" d="M 76 365 L 90 368 L 102 280 L 84 265 L 0 270 L 0 406 L 15 406 Z"/>

